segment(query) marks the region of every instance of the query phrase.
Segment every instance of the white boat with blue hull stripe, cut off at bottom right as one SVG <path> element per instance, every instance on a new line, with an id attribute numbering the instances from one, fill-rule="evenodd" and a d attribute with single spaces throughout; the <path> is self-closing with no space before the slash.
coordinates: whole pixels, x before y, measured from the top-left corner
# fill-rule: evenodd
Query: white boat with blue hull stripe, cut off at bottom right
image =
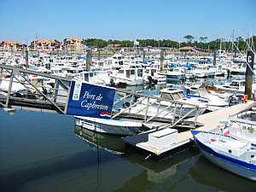
<path id="1" fill-rule="evenodd" d="M 201 153 L 213 164 L 256 181 L 256 145 L 223 134 L 191 131 Z"/>

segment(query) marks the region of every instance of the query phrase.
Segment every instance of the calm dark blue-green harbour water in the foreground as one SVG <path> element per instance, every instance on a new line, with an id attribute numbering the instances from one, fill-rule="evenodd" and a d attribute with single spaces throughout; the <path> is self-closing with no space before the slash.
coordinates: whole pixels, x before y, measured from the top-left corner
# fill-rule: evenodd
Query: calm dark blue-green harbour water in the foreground
<path id="1" fill-rule="evenodd" d="M 119 137 L 81 130 L 71 116 L 0 108 L 1 192 L 256 191 L 195 147 L 161 160 L 146 156 L 127 151 Z"/>

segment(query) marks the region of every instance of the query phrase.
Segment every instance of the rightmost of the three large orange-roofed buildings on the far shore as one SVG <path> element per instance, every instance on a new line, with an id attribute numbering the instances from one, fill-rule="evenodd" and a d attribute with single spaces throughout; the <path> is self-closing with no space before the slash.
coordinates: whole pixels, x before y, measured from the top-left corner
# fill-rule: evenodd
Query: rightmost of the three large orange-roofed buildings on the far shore
<path id="1" fill-rule="evenodd" d="M 62 50 L 72 52 L 82 52 L 87 48 L 86 41 L 81 38 L 65 38 L 62 45 Z"/>

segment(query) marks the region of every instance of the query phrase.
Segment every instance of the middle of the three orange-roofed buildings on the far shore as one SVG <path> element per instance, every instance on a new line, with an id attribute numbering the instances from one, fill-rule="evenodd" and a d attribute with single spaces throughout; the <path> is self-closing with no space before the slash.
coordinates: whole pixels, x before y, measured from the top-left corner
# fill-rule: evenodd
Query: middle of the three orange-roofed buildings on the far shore
<path id="1" fill-rule="evenodd" d="M 38 39 L 35 41 L 32 41 L 31 44 L 29 44 L 30 50 L 40 50 L 42 52 L 48 52 L 48 51 L 54 51 L 57 49 L 60 49 L 61 43 L 57 40 L 47 40 L 47 39 Z"/>

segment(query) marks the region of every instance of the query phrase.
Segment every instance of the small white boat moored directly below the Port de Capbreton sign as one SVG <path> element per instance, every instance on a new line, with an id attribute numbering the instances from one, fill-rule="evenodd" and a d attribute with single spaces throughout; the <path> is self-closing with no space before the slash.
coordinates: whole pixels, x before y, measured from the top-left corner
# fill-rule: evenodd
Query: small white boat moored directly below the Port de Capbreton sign
<path id="1" fill-rule="evenodd" d="M 121 136 L 134 135 L 143 131 L 143 123 L 130 120 L 99 119 L 91 117 L 74 116 L 75 123 L 90 131 L 115 134 Z"/>

